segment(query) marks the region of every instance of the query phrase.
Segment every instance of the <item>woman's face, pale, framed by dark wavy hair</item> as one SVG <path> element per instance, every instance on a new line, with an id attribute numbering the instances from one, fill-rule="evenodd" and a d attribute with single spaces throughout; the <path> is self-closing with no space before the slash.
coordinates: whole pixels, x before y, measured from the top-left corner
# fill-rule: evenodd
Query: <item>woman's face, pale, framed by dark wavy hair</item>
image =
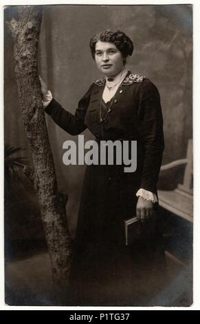
<path id="1" fill-rule="evenodd" d="M 95 61 L 98 70 L 106 77 L 115 77 L 124 67 L 122 53 L 115 44 L 107 41 L 96 43 Z"/>

